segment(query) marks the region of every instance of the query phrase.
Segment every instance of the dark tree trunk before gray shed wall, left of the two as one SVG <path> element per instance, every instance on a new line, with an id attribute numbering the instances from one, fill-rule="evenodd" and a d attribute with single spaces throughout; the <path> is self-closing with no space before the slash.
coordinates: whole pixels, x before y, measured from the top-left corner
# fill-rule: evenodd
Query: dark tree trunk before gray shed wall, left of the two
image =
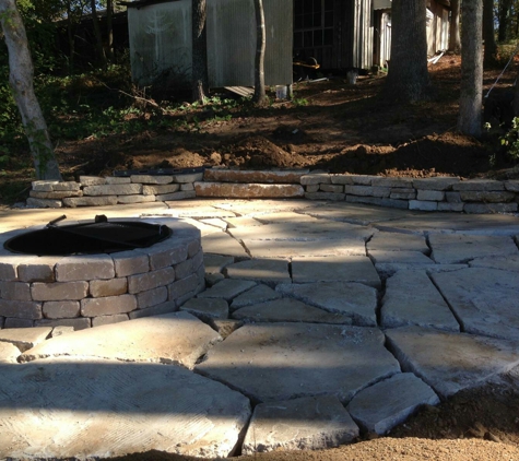
<path id="1" fill-rule="evenodd" d="M 205 0 L 192 0 L 192 99 L 203 103 L 209 91 Z"/>

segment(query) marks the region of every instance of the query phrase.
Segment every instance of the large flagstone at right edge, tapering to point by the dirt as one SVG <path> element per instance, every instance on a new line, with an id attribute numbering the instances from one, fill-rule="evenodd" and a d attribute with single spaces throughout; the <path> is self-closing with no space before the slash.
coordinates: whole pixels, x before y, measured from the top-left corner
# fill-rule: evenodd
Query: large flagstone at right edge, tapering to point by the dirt
<path id="1" fill-rule="evenodd" d="M 519 364 L 519 342 L 420 327 L 386 331 L 404 371 L 412 371 L 438 394 L 484 382 Z"/>

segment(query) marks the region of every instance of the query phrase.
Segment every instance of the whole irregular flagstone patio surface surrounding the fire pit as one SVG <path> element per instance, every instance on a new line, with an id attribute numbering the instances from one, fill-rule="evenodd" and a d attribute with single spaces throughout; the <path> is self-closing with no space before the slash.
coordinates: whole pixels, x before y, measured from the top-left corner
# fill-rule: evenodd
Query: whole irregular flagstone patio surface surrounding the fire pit
<path id="1" fill-rule="evenodd" d="M 519 366 L 516 215 L 190 200 L 4 209 L 0 233 L 63 212 L 199 227 L 207 287 L 176 312 L 0 330 L 0 459 L 335 447 Z"/>

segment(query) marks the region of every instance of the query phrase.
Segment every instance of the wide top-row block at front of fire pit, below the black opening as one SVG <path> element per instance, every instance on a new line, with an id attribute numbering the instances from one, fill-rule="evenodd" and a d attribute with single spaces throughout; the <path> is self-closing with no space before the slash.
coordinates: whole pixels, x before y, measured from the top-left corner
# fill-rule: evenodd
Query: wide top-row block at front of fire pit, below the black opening
<path id="1" fill-rule="evenodd" d="M 58 282 L 103 280 L 115 276 L 114 261 L 108 255 L 84 255 L 61 258 L 56 263 Z"/>

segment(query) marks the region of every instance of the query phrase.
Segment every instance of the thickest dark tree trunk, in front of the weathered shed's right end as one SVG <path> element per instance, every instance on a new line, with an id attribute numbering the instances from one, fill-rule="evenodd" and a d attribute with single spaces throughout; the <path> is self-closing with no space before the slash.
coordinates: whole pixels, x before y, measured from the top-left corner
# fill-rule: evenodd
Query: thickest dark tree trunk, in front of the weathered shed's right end
<path id="1" fill-rule="evenodd" d="M 393 0 L 391 60 L 386 95 L 403 101 L 427 96 L 427 37 L 424 0 Z"/>

